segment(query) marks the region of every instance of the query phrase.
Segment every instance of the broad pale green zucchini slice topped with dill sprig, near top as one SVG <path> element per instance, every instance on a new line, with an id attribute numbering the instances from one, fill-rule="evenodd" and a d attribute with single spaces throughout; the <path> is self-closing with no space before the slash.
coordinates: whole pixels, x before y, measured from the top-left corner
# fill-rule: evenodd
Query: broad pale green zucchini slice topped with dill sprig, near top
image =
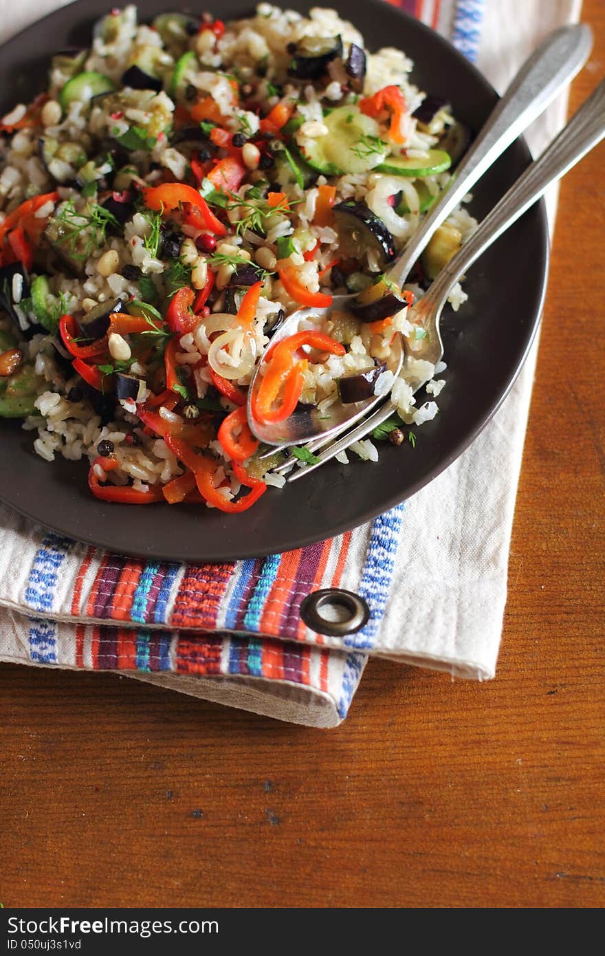
<path id="1" fill-rule="evenodd" d="M 295 140 L 304 159 L 324 176 L 381 170 L 387 145 L 379 126 L 355 106 L 338 106 L 323 118 L 328 132 L 311 139 L 297 133 Z"/>

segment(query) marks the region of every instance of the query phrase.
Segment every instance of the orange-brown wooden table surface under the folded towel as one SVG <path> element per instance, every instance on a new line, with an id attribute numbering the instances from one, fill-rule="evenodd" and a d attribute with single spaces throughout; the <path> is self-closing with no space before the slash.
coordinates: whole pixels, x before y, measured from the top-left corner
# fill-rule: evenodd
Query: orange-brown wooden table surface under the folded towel
<path id="1" fill-rule="evenodd" d="M 371 662 L 319 731 L 2 665 L 5 906 L 605 904 L 604 162 L 562 185 L 496 679 Z"/>

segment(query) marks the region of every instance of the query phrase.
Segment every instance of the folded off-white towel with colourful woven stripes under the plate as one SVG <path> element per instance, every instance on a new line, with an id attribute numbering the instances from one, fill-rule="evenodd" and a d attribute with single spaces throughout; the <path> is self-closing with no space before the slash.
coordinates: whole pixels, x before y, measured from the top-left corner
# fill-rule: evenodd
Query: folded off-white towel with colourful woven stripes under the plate
<path id="1" fill-rule="evenodd" d="M 58 5 L 11 8 L 0 34 Z M 529 49 L 579 14 L 577 0 L 546 10 L 539 0 L 395 5 L 450 36 L 499 90 Z M 561 98 L 535 125 L 536 149 L 565 110 Z M 430 486 L 372 524 L 302 550 L 225 564 L 145 562 L 0 507 L 0 662 L 118 671 L 315 727 L 346 716 L 369 655 L 492 677 L 534 359 L 535 349 L 492 423 Z M 367 601 L 357 634 L 326 637 L 300 619 L 303 598 L 329 587 Z"/>

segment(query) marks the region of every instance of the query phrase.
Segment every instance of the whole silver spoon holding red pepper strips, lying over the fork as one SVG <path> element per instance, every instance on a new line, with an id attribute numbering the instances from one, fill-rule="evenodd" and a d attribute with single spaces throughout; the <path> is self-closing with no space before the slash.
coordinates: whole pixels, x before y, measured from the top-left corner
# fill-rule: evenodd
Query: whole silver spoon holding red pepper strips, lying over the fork
<path id="1" fill-rule="evenodd" d="M 387 273 L 391 282 L 400 286 L 405 281 L 435 229 L 443 223 L 471 186 L 483 176 L 508 145 L 532 120 L 540 116 L 563 87 L 573 79 L 586 62 L 592 46 L 593 33 L 590 27 L 578 24 L 554 31 L 529 56 L 505 96 L 493 109 L 477 140 L 458 167 L 456 176 Z M 318 325 L 325 321 L 333 310 L 346 309 L 354 297 L 353 294 L 335 295 L 328 308 L 297 309 L 272 337 L 270 346 L 282 338 L 294 335 L 301 321 L 305 319 L 311 319 L 313 324 Z M 402 360 L 400 336 L 395 338 L 391 351 L 388 368 L 397 376 Z M 256 438 L 274 448 L 302 443 L 309 445 L 310 450 L 321 447 L 345 428 L 364 418 L 382 401 L 381 396 L 373 396 L 364 402 L 344 405 L 335 402 L 322 414 L 299 407 L 285 422 L 261 423 L 254 419 L 252 414 L 252 396 L 258 387 L 262 365 L 261 359 L 248 389 L 248 423 Z"/>

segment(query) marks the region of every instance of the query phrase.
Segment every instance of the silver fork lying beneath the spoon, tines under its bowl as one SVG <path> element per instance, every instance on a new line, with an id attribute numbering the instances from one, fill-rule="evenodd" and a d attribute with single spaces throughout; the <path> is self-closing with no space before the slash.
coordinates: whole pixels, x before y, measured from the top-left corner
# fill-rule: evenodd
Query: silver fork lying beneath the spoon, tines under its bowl
<path id="1" fill-rule="evenodd" d="M 605 79 L 601 80 L 593 94 L 574 114 L 551 145 L 538 160 L 531 163 L 497 206 L 486 216 L 481 226 L 465 246 L 450 259 L 419 302 L 408 311 L 408 318 L 426 332 L 421 339 L 421 348 L 410 359 L 427 359 L 436 363 L 443 357 L 443 341 L 440 334 L 440 319 L 443 305 L 452 287 L 461 275 L 475 262 L 495 240 L 517 221 L 530 206 L 544 194 L 548 187 L 578 163 L 605 137 Z M 405 363 L 403 373 L 405 371 Z M 418 391 L 424 382 L 412 382 L 413 391 Z M 297 481 L 315 468 L 330 461 L 339 452 L 345 451 L 354 442 L 370 434 L 396 410 L 391 401 L 385 402 L 378 411 L 366 418 L 357 427 L 341 436 L 325 448 L 313 465 L 301 468 L 292 474 L 289 481 Z"/>

